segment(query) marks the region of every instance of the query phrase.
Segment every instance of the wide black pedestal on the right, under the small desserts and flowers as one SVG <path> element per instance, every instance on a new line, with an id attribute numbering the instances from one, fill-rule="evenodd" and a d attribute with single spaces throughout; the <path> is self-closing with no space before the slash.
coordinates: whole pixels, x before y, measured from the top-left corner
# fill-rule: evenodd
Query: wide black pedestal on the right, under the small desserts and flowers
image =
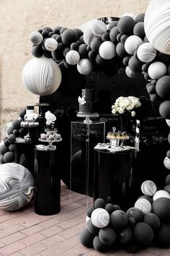
<path id="1" fill-rule="evenodd" d="M 127 209 L 133 205 L 130 188 L 133 179 L 132 152 L 111 153 L 94 150 L 94 200 L 101 197 Z"/>

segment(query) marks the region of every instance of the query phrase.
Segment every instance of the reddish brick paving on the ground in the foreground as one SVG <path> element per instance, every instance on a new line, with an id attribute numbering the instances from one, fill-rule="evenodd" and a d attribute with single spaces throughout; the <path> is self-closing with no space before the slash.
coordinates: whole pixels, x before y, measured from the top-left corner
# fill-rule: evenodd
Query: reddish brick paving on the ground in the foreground
<path id="1" fill-rule="evenodd" d="M 170 249 L 149 247 L 137 254 L 124 250 L 100 253 L 84 247 L 79 234 L 86 226 L 86 208 L 92 198 L 70 192 L 61 183 L 61 212 L 53 216 L 39 216 L 34 211 L 34 202 L 18 211 L 0 210 L 0 255 L 36 256 L 97 256 L 140 255 L 169 256 Z"/>

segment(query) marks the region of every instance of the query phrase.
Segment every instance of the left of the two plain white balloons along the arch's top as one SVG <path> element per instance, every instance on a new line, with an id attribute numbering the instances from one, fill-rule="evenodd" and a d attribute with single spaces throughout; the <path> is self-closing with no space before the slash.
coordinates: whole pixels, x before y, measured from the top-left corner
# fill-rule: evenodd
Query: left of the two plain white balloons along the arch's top
<path id="1" fill-rule="evenodd" d="M 103 59 L 112 59 L 116 55 L 116 46 L 111 41 L 105 41 L 99 46 L 99 55 Z"/>

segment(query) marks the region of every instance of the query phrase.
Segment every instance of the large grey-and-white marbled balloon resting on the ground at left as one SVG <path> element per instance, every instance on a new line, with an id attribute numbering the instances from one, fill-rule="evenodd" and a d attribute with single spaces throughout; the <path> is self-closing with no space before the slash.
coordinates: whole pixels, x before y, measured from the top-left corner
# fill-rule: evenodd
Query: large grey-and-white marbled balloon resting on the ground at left
<path id="1" fill-rule="evenodd" d="M 0 208 L 18 210 L 32 199 L 35 182 L 27 168 L 18 163 L 0 166 Z"/>

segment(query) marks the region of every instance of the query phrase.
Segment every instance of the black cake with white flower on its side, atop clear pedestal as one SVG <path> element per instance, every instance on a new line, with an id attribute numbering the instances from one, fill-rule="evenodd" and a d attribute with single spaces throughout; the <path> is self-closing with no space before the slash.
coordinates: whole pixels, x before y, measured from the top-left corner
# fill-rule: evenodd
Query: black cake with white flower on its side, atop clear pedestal
<path id="1" fill-rule="evenodd" d="M 79 101 L 79 114 L 94 113 L 94 89 L 82 89 Z"/>

